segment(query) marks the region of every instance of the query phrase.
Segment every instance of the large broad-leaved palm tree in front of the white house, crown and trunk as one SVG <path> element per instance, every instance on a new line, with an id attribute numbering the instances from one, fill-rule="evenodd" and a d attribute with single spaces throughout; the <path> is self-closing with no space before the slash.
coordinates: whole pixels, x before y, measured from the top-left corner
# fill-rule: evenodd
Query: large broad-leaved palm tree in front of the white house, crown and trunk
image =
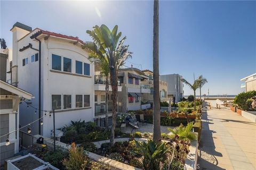
<path id="1" fill-rule="evenodd" d="M 116 108 L 117 108 L 117 74 L 119 67 L 122 66 L 127 58 L 131 57 L 128 51 L 129 45 L 124 45 L 126 37 L 119 41 L 122 33 L 117 33 L 118 26 L 115 25 L 112 31 L 102 24 L 100 27 L 95 25 L 93 30 L 86 32 L 92 37 L 92 42 L 86 42 L 82 47 L 89 50 L 91 55 L 98 56 L 100 60 L 105 60 L 109 67 L 110 84 L 113 92 L 113 114 L 112 128 L 110 134 L 111 146 L 114 145 L 116 127 Z M 119 43 L 118 43 L 119 42 Z"/>

